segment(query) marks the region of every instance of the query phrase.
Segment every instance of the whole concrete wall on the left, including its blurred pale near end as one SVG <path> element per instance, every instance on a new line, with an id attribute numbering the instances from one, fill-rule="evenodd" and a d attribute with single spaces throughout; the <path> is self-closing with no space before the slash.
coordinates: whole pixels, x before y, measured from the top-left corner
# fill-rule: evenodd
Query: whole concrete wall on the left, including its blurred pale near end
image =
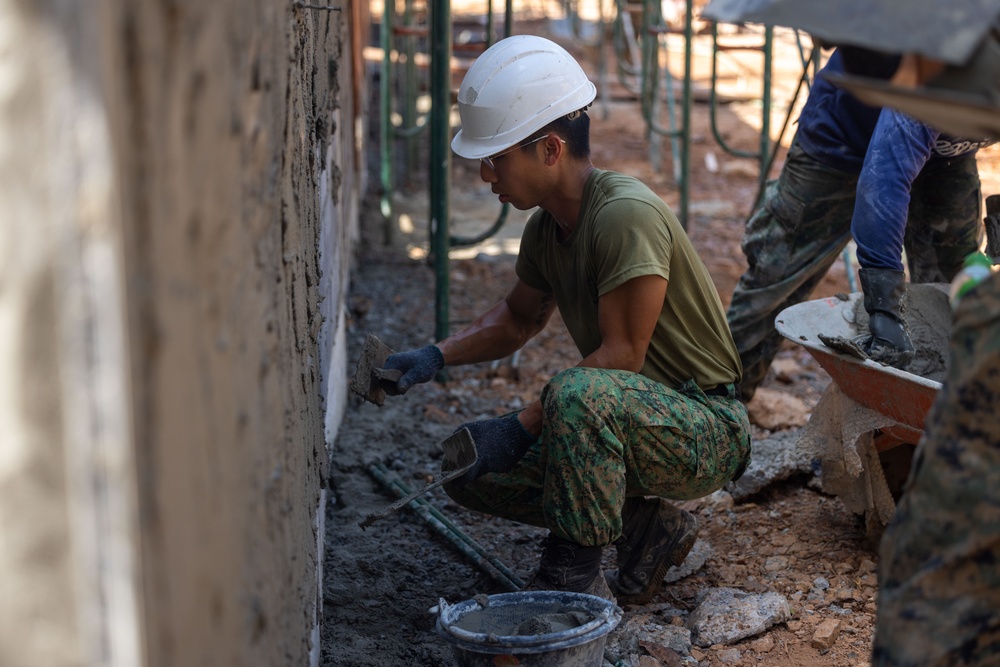
<path id="1" fill-rule="evenodd" d="M 351 5 L 0 0 L 0 665 L 318 660 Z"/>

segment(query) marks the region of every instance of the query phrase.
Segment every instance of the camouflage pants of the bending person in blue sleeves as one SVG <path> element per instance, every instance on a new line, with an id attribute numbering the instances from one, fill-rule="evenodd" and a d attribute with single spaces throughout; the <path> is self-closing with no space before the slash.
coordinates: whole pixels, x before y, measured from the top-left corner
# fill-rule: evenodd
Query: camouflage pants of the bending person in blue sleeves
<path id="1" fill-rule="evenodd" d="M 780 176 L 747 221 L 748 268 L 726 313 L 743 362 L 744 399 L 781 345 L 775 317 L 809 298 L 850 240 L 857 184 L 856 174 L 823 166 L 793 142 Z M 982 238 L 975 156 L 929 163 L 910 193 L 904 238 L 910 279 L 947 282 Z"/>

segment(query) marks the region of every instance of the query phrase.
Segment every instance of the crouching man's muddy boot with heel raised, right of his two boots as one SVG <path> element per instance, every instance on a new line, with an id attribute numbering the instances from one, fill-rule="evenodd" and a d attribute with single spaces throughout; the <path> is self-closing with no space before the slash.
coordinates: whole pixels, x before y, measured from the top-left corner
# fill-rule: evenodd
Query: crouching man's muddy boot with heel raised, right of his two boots
<path id="1" fill-rule="evenodd" d="M 663 588 L 671 566 L 684 562 L 698 538 L 698 520 L 665 498 L 626 498 L 618 569 L 606 573 L 620 604 L 646 604 Z"/>

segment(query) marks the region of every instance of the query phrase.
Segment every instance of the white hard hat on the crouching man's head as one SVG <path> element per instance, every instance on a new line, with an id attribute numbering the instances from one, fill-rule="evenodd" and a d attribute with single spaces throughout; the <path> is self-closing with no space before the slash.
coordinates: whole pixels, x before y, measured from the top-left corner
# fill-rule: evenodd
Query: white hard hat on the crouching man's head
<path id="1" fill-rule="evenodd" d="M 580 64 L 555 42 L 515 35 L 488 48 L 458 89 L 462 129 L 451 148 L 481 158 L 514 146 L 597 97 Z"/>

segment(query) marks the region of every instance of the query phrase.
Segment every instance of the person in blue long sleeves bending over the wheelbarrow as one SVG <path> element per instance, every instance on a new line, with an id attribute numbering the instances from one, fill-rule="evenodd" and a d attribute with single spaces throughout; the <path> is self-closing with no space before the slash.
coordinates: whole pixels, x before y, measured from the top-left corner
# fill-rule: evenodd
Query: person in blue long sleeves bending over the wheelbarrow
<path id="1" fill-rule="evenodd" d="M 774 319 L 809 298 L 853 236 L 872 359 L 905 368 L 903 251 L 913 282 L 947 282 L 982 238 L 976 151 L 991 140 L 951 137 L 893 110 L 867 106 L 825 72 L 888 79 L 900 58 L 838 48 L 812 86 L 776 180 L 747 222 L 748 268 L 726 318 L 749 401 L 781 345 Z"/>

